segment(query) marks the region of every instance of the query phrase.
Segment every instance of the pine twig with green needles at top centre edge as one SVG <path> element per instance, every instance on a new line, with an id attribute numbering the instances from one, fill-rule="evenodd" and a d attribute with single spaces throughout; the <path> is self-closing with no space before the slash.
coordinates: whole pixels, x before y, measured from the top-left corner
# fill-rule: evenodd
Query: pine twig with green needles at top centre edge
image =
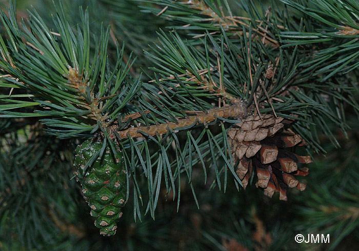
<path id="1" fill-rule="evenodd" d="M 141 1 L 144 3 L 153 3 L 157 6 L 165 6 L 161 11 L 158 12 L 158 9 L 153 8 L 152 6 L 143 6 L 142 8 L 151 11 L 157 16 L 164 17 L 168 20 L 173 20 L 174 23 L 182 24 L 182 26 L 170 26 L 176 31 L 192 31 L 198 32 L 198 30 L 208 30 L 209 34 L 217 36 L 221 34 L 221 29 L 223 29 L 228 36 L 243 36 L 248 35 L 248 31 L 243 31 L 243 26 L 247 29 L 250 28 L 248 21 L 254 20 L 259 25 L 254 25 L 255 28 L 252 28 L 253 37 L 259 37 L 263 43 L 279 47 L 276 37 L 267 28 L 263 28 L 263 20 L 258 20 L 257 18 L 248 18 L 244 16 L 236 16 L 232 14 L 232 11 L 229 7 L 227 0 L 224 1 L 224 6 L 221 2 L 214 1 Z M 269 12 L 270 9 L 264 15 L 264 18 L 268 17 L 269 22 Z M 192 15 L 188 15 L 192 13 Z M 284 26 L 278 25 L 277 28 L 284 28 Z M 192 38 L 200 38 L 205 36 L 203 33 L 190 33 Z"/>

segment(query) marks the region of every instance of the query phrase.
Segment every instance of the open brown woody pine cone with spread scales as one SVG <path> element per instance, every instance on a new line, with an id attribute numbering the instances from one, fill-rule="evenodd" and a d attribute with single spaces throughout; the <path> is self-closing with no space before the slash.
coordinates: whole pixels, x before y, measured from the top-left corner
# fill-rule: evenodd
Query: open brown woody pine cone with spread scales
<path id="1" fill-rule="evenodd" d="M 295 176 L 308 175 L 307 167 L 297 163 L 312 163 L 309 156 L 298 156 L 285 148 L 306 145 L 301 136 L 288 129 L 293 120 L 264 115 L 251 115 L 244 122 L 228 130 L 233 162 L 239 164 L 236 170 L 243 187 L 246 188 L 254 168 L 256 186 L 264 188 L 264 194 L 272 197 L 280 192 L 280 200 L 287 200 L 287 188 L 296 187 L 303 191 L 305 184 Z M 284 128 L 286 127 L 286 128 Z"/>

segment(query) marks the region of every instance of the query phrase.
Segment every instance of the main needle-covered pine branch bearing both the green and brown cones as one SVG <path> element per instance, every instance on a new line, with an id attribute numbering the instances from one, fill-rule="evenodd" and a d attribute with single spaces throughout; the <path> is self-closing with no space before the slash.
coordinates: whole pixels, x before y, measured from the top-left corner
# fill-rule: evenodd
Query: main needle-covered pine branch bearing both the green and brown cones
<path id="1" fill-rule="evenodd" d="M 207 2 L 195 3 L 198 5 L 190 7 L 199 15 L 217 10 Z M 201 14 L 198 8 L 204 6 L 209 9 Z M 173 3 L 172 7 L 178 5 Z M 268 44 L 277 41 L 270 38 L 275 38 L 275 32 L 292 28 L 289 17 L 271 10 L 262 15 L 254 7 L 251 4 L 245 9 L 250 19 L 261 20 L 259 23 L 247 22 L 240 27 L 233 21 L 235 16 L 229 14 L 238 31 L 235 36 L 225 23 L 217 23 L 230 20 L 221 11 L 214 11 L 209 26 L 200 26 L 203 39 L 187 41 L 175 31 L 158 33 L 158 43 L 145 52 L 154 65 L 150 82 L 133 79 L 129 74 L 133 64 L 125 59 L 124 47 L 117 45 L 116 60 L 110 61 L 110 28 L 102 28 L 99 42 L 90 48 L 86 11 L 81 12 L 82 23 L 72 29 L 60 4 L 54 18 L 55 30 L 49 29 L 35 11 L 23 29 L 17 29 L 14 13 L 9 17 L 2 13 L 8 39 L 0 41 L 4 51 L 0 65 L 5 75 L 0 87 L 6 91 L 14 88 L 15 92 L 10 97 L 1 96 L 0 115 L 26 117 L 29 113 L 11 109 L 37 105 L 32 115 L 48 117 L 42 122 L 59 138 L 101 135 L 104 146 L 94 153 L 85 169 L 104 156 L 106 147 L 112 151 L 121 148 L 126 199 L 132 191 L 134 217 L 140 220 L 144 200 L 148 200 L 146 213 L 150 211 L 154 217 L 163 178 L 167 194 L 173 192 L 178 206 L 181 173 L 191 184 L 192 167 L 197 163 L 203 168 L 205 182 L 209 161 L 214 167 L 214 185 L 226 189 L 231 174 L 239 189 L 242 183 L 235 169 L 237 159 L 231 154 L 228 128 L 238 119 L 246 119 L 254 106 L 263 118 L 266 113 L 274 113 L 296 120 L 296 132 L 314 149 L 322 149 L 318 143 L 320 131 L 333 136 L 326 120 L 345 130 L 340 108 L 344 102 L 356 105 L 348 87 L 350 81 L 339 85 L 336 81 L 342 79 L 332 78 L 323 85 L 322 79 L 312 74 L 315 67 L 306 68 L 312 60 L 311 51 Z M 231 13 L 229 8 L 227 11 Z M 300 30 L 303 25 L 293 26 Z M 215 34 L 211 34 L 211 28 Z M 25 96 L 21 96 L 22 91 Z M 21 98 L 32 98 L 34 103 L 21 103 Z M 197 127 L 200 124 L 204 124 L 202 130 Z M 211 124 L 220 125 L 221 130 L 209 127 Z M 146 194 L 139 185 L 141 179 L 148 185 Z M 191 190 L 198 203 L 193 186 Z M 277 190 L 284 198 L 283 189 Z"/>

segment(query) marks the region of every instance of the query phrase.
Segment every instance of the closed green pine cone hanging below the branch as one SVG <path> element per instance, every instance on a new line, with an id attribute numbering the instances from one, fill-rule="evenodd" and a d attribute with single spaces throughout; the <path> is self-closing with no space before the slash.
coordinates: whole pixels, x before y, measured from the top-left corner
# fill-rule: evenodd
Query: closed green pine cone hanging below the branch
<path id="1" fill-rule="evenodd" d="M 101 235 L 114 235 L 117 221 L 122 216 L 121 208 L 126 200 L 126 170 L 124 157 L 117 150 L 113 155 L 107 146 L 104 156 L 97 158 L 86 171 L 86 163 L 103 147 L 103 142 L 87 140 L 76 147 L 76 180 L 82 185 L 84 198 L 89 204 L 90 215 L 95 217 L 95 226 Z"/>

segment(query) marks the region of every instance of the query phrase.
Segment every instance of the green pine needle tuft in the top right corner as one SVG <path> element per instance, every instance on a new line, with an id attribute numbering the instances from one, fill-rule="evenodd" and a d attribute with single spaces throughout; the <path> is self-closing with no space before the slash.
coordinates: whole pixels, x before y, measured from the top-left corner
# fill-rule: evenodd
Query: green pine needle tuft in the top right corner
<path id="1" fill-rule="evenodd" d="M 313 20 L 298 31 L 283 31 L 283 47 L 287 46 L 317 46 L 313 59 L 303 62 L 302 66 L 314 69 L 315 75 L 325 74 L 323 81 L 327 81 L 336 73 L 347 73 L 358 65 L 357 43 L 359 25 L 359 6 L 356 1 L 304 1 L 302 4 L 294 1 L 282 2 L 306 14 L 306 18 Z M 340 4 L 339 4 L 340 3 Z M 316 46 L 314 45 L 314 48 Z"/>

